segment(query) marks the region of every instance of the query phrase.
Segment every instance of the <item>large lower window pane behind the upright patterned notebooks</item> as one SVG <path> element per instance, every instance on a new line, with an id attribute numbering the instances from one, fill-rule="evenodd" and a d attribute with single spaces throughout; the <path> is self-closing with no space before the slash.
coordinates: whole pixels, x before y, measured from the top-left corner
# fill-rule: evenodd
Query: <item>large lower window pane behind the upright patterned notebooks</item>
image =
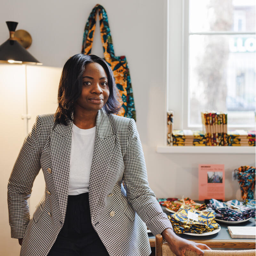
<path id="1" fill-rule="evenodd" d="M 255 124 L 255 35 L 189 36 L 189 125 L 200 112 L 228 112 L 228 124 Z"/>

